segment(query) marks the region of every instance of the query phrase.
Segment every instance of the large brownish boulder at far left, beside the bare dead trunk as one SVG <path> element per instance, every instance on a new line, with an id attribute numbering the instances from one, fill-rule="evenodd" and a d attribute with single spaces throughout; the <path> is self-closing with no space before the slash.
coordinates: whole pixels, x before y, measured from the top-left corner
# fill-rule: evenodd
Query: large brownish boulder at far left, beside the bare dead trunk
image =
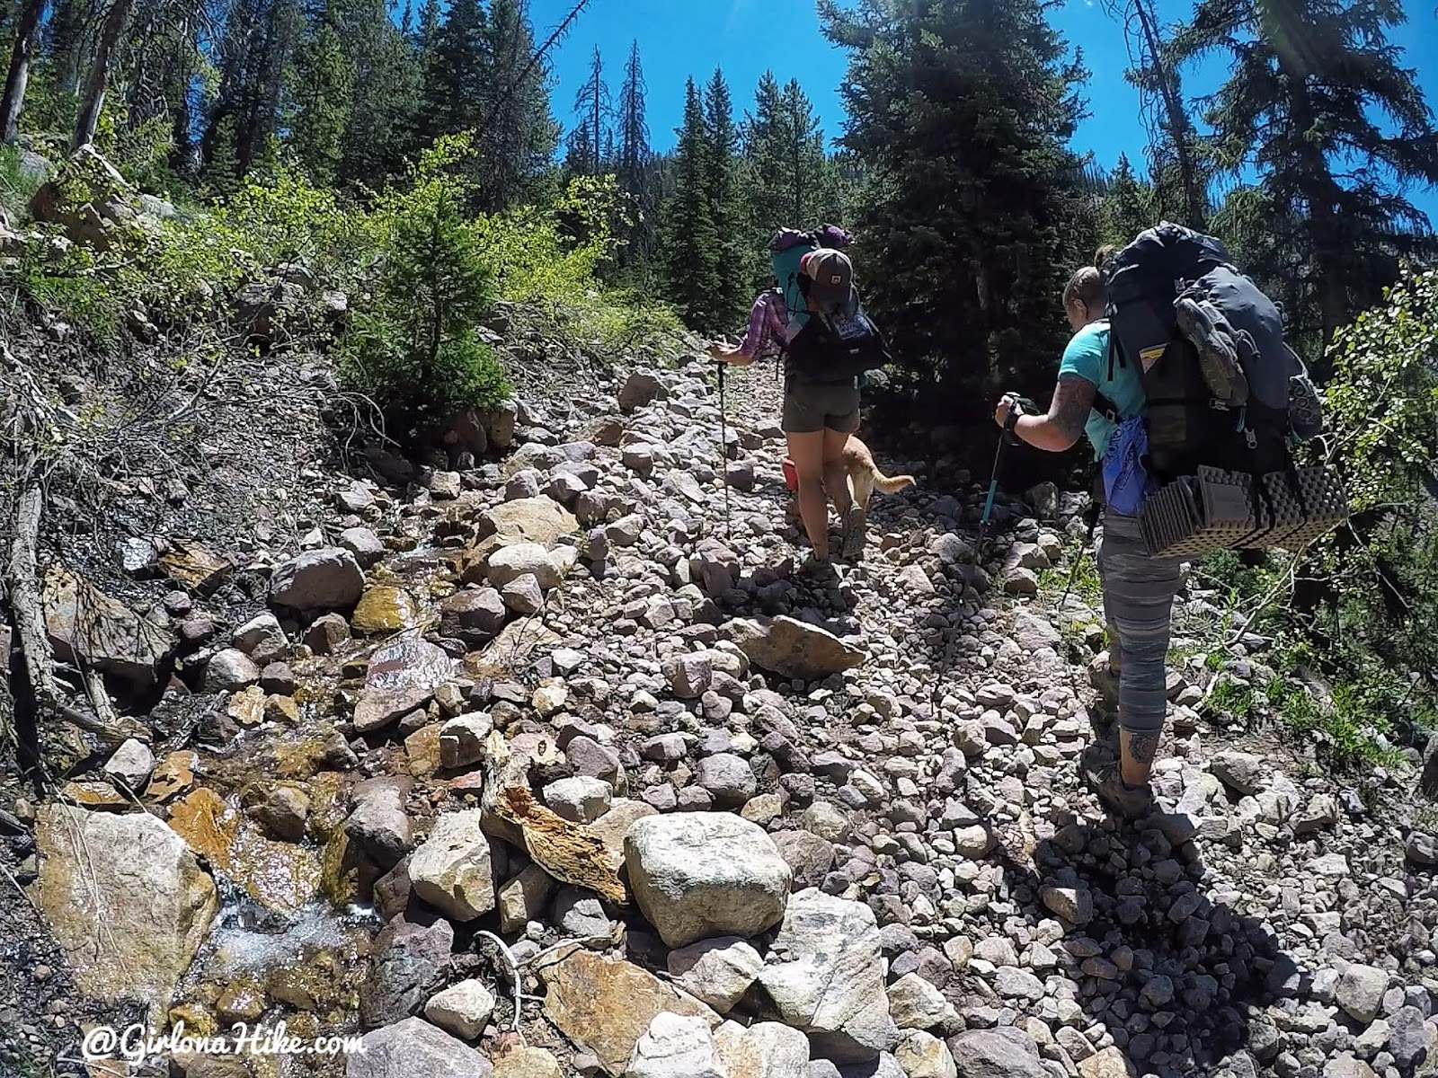
<path id="1" fill-rule="evenodd" d="M 60 661 L 83 661 L 138 686 L 152 686 L 174 651 L 165 630 L 58 565 L 45 573 L 43 605 L 45 628 Z"/>

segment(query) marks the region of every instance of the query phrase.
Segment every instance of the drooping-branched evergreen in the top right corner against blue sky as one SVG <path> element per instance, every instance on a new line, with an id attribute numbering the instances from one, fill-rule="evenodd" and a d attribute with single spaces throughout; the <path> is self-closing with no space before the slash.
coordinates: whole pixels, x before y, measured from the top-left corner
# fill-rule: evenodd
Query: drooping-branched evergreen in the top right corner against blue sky
<path id="1" fill-rule="evenodd" d="M 1257 170 L 1276 223 L 1296 229 L 1324 342 L 1378 299 L 1398 256 L 1434 250 L 1405 197 L 1438 183 L 1438 137 L 1386 37 L 1402 22 L 1388 0 L 1201 0 L 1175 40 L 1182 59 L 1234 57 L 1205 116 L 1212 142 L 1222 167 Z"/>

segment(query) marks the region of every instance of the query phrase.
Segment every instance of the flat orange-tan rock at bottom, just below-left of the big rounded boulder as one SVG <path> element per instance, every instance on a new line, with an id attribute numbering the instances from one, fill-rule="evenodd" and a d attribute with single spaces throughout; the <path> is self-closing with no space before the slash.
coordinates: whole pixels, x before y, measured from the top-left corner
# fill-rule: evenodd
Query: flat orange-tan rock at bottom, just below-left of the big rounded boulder
<path id="1" fill-rule="evenodd" d="M 638 966 L 585 950 L 545 964 L 545 1015 L 610 1075 L 623 1075 L 634 1045 L 661 1012 L 695 1015 L 710 1026 L 719 1016 Z"/>

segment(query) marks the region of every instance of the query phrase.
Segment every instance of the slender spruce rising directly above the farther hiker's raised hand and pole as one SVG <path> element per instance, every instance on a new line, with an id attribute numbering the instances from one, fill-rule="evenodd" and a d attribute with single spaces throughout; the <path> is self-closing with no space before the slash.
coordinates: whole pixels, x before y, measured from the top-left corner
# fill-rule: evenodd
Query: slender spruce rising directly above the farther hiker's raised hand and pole
<path id="1" fill-rule="evenodd" d="M 705 165 L 703 185 L 709 220 L 715 231 L 716 287 L 707 312 L 709 325 L 723 326 L 743 315 L 749 286 L 743 256 L 743 206 L 739 197 L 736 152 L 739 129 L 733 122 L 733 103 L 723 72 L 718 68 L 705 88 Z"/>

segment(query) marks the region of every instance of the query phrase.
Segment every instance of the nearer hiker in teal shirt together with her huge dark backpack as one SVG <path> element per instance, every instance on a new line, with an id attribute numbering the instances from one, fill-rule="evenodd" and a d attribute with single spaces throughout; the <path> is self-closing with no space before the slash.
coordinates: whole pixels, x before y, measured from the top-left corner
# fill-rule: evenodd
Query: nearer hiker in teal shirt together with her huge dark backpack
<path id="1" fill-rule="evenodd" d="M 1139 818 L 1168 710 L 1165 658 L 1179 559 L 1299 543 L 1347 517 L 1332 467 L 1293 447 L 1322 430 L 1317 391 L 1283 315 L 1222 244 L 1160 223 L 1100 252 L 1064 289 L 1074 335 L 1045 415 L 1007 394 L 994 420 L 1050 451 L 1087 434 L 1100 463 L 1096 542 L 1117 683 L 1119 760 L 1084 773 Z"/>

